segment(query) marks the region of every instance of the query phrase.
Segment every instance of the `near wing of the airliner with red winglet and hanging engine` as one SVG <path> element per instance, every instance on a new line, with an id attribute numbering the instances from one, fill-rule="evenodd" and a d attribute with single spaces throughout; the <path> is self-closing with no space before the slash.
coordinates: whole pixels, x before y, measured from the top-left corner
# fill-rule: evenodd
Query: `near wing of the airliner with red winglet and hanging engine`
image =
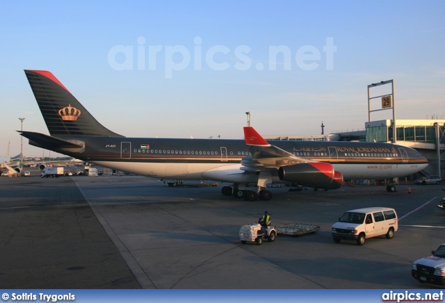
<path id="1" fill-rule="evenodd" d="M 302 186 L 327 190 L 343 183 L 343 176 L 330 163 L 298 157 L 270 145 L 253 127 L 244 127 L 244 138 L 251 156 L 243 158 L 241 170 L 259 172 L 259 186 L 265 187 L 277 172 L 281 181 Z"/>

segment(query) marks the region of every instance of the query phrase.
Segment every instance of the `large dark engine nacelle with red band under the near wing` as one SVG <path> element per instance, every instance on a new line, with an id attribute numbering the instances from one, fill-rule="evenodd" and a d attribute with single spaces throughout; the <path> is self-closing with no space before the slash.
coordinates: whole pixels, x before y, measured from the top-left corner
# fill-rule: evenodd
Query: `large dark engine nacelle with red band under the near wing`
<path id="1" fill-rule="evenodd" d="M 298 183 L 321 189 L 337 189 L 343 183 L 341 172 L 335 172 L 330 163 L 300 163 L 280 167 L 278 177 L 281 181 Z"/>

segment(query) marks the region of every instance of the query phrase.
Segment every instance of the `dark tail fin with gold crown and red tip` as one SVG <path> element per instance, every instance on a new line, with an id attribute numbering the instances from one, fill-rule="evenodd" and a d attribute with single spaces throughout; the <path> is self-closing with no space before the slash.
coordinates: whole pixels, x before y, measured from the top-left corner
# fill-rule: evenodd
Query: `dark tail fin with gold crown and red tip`
<path id="1" fill-rule="evenodd" d="M 51 72 L 25 69 L 25 74 L 51 136 L 123 137 L 97 122 Z"/>

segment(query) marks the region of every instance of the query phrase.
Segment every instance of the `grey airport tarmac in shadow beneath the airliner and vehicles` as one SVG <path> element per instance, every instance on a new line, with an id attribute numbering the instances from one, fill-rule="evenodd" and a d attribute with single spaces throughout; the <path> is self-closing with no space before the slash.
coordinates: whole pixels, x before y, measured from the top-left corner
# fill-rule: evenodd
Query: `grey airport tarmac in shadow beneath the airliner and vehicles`
<path id="1" fill-rule="evenodd" d="M 438 288 L 412 261 L 445 243 L 444 185 L 342 187 L 247 202 L 216 187 L 138 176 L 0 178 L 1 288 Z M 408 193 L 411 188 L 412 193 Z M 344 211 L 393 207 L 394 238 L 334 243 Z M 316 234 L 241 244 L 243 224 L 316 224 Z"/>

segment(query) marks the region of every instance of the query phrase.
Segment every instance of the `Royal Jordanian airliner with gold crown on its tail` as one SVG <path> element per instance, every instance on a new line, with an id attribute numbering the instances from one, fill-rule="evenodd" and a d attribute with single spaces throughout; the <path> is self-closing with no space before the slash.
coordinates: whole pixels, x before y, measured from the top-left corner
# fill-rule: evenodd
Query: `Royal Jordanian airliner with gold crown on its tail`
<path id="1" fill-rule="evenodd" d="M 409 147 L 380 142 L 267 142 L 253 127 L 244 140 L 127 138 L 97 122 L 48 71 L 25 71 L 49 134 L 19 131 L 29 144 L 124 172 L 175 180 L 232 183 L 223 195 L 270 200 L 268 183 L 315 190 L 343 179 L 393 179 L 423 170 L 428 160 Z M 248 184 L 256 190 L 246 190 Z M 387 186 L 394 192 L 394 184 Z"/>

